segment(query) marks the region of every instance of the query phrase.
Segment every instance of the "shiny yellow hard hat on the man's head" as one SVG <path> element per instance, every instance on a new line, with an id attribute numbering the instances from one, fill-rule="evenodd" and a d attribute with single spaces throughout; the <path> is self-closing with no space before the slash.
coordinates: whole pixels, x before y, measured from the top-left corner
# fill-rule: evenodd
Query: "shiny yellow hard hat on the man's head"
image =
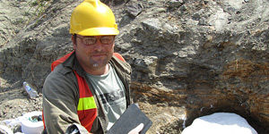
<path id="1" fill-rule="evenodd" d="M 111 9 L 100 0 L 84 0 L 75 7 L 70 33 L 82 36 L 117 35 L 117 23 Z"/>

